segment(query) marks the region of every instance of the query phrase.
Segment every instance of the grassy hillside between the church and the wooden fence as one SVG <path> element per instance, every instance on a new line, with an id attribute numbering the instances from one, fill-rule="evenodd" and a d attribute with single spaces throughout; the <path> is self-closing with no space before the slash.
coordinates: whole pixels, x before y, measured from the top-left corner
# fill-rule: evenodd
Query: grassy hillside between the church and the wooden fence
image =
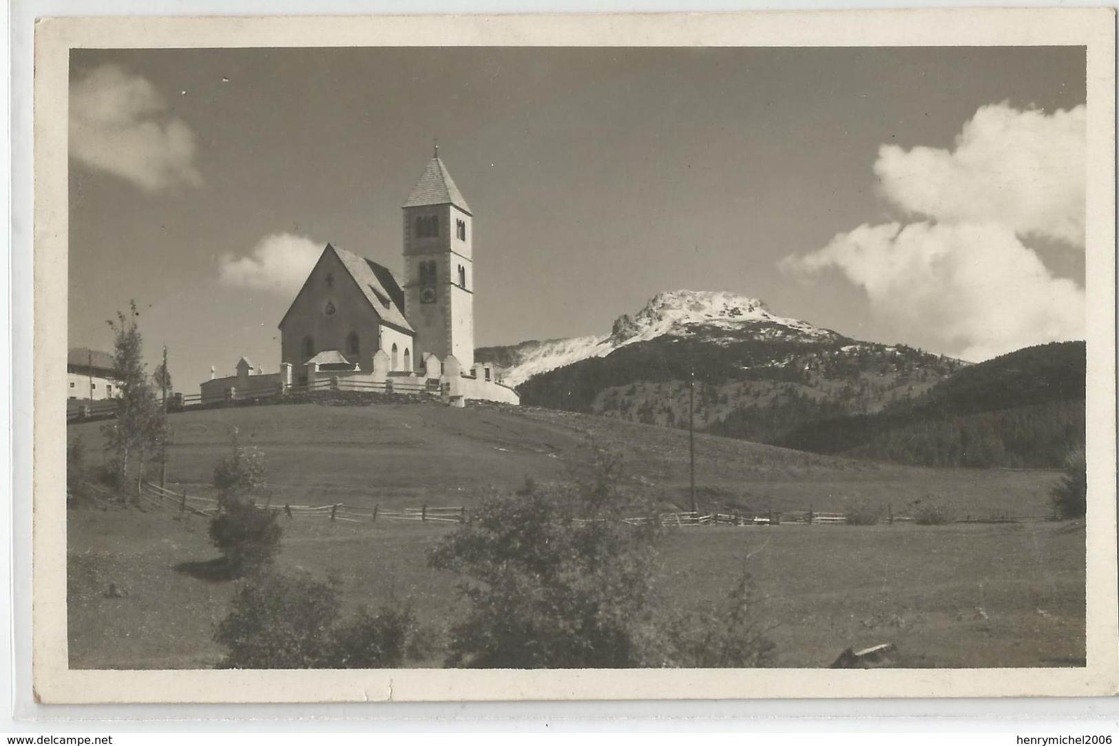
<path id="1" fill-rule="evenodd" d="M 688 504 L 686 432 L 615 418 L 530 407 L 438 403 L 235 407 L 171 415 L 168 481 L 208 493 L 231 428 L 269 461 L 272 501 L 355 506 L 467 504 L 491 488 L 513 490 L 584 473 L 591 445 L 622 454 L 632 484 L 666 509 Z M 97 423 L 72 425 L 90 452 Z M 1049 512 L 1053 474 L 918 469 L 802 453 L 714 435 L 696 435 L 700 508 L 841 510 L 871 499 L 901 510 L 935 491 L 960 514 Z"/>

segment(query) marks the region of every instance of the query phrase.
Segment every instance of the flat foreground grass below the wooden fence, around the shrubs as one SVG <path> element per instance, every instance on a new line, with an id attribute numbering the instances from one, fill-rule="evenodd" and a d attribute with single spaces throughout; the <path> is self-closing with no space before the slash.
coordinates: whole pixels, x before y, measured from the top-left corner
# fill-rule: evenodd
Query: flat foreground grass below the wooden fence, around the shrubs
<path id="1" fill-rule="evenodd" d="M 213 625 L 237 582 L 176 569 L 215 558 L 199 517 L 69 512 L 73 668 L 206 668 Z M 450 527 L 290 521 L 279 567 L 342 580 L 347 603 L 411 597 L 439 626 L 453 575 L 425 553 Z M 687 528 L 667 539 L 658 585 L 671 603 L 716 598 L 746 553 L 778 664 L 829 664 L 847 646 L 892 642 L 906 664 L 1078 665 L 1084 658 L 1083 525 Z M 109 584 L 122 593 L 106 597 Z M 439 665 L 440 661 L 427 661 Z"/>

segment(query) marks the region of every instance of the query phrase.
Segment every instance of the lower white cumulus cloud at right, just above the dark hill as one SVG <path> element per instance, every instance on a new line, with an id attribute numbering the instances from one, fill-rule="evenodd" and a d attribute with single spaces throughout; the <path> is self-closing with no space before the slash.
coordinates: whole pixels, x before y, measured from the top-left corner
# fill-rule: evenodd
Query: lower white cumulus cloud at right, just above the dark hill
<path id="1" fill-rule="evenodd" d="M 1013 230 L 994 223 L 863 225 L 818 252 L 786 257 L 781 267 L 838 268 L 876 314 L 966 360 L 1084 334 L 1084 291 L 1054 277 Z"/>

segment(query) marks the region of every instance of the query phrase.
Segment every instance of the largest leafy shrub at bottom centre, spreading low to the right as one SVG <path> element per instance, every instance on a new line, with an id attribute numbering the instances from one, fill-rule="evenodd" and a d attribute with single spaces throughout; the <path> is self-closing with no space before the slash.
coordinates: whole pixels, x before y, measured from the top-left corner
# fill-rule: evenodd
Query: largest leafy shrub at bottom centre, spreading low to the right
<path id="1" fill-rule="evenodd" d="M 516 495 L 491 495 L 471 523 L 433 548 L 433 567 L 466 578 L 459 586 L 466 614 L 451 626 L 446 663 L 628 668 L 762 660 L 749 578 L 723 607 L 665 611 L 652 585 L 660 522 L 620 520 L 638 510 L 627 507 L 633 499 L 620 489 L 621 462 L 596 450 L 595 463 L 589 478 L 529 482 Z"/>

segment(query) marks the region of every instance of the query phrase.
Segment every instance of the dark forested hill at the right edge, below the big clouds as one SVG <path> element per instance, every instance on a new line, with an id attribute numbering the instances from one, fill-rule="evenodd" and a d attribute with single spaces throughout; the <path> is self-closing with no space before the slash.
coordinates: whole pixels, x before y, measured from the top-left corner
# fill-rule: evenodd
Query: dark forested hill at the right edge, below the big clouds
<path id="1" fill-rule="evenodd" d="M 1041 344 L 882 412 L 809 423 L 774 442 L 911 464 L 1059 468 L 1084 442 L 1084 383 L 1083 342 Z"/>

